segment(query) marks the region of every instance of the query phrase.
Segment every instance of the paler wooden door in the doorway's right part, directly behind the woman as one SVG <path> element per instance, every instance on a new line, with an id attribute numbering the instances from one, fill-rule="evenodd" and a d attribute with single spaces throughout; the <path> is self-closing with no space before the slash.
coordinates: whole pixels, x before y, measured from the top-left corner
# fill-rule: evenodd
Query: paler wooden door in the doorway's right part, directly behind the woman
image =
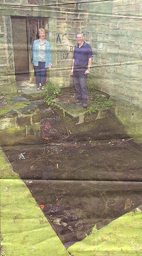
<path id="1" fill-rule="evenodd" d="M 34 66 L 32 63 L 32 44 L 38 39 L 39 28 L 44 28 L 45 39 L 48 40 L 48 19 L 47 18 L 27 18 L 27 40 L 28 40 L 28 66 L 30 82 L 36 82 Z"/>

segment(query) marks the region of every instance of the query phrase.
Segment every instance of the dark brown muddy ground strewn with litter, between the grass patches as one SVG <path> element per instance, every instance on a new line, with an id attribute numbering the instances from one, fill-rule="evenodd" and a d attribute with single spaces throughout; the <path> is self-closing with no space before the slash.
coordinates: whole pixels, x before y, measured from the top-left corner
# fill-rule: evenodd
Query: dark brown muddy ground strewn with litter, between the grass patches
<path id="1" fill-rule="evenodd" d="M 3 150 L 66 247 L 142 204 L 142 148 L 132 138 L 62 135 Z"/>

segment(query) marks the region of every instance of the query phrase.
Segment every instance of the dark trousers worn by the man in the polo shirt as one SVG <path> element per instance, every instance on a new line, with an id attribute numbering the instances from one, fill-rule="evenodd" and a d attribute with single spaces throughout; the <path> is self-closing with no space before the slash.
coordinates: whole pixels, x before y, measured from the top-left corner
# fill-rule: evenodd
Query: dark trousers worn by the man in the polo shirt
<path id="1" fill-rule="evenodd" d="M 87 75 L 86 68 L 76 68 L 73 70 L 73 85 L 76 89 L 76 96 L 83 104 L 87 104 Z"/>

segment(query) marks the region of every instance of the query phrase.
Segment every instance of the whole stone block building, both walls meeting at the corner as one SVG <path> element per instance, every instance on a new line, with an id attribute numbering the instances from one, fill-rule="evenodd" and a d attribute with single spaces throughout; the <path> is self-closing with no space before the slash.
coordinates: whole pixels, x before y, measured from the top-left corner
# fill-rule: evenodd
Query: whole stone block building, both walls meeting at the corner
<path id="1" fill-rule="evenodd" d="M 47 17 L 53 61 L 49 80 L 61 87 L 72 85 L 70 68 L 76 32 L 83 31 L 86 42 L 93 48 L 91 72 L 98 75 L 96 89 L 110 94 L 116 106 L 114 111 L 121 116 L 122 123 L 124 113 L 120 114 L 118 109 L 123 102 L 125 106 L 126 102 L 129 104 L 129 110 L 125 109 L 125 113 L 130 113 L 129 120 L 131 106 L 132 109 L 136 106 L 135 113 L 137 108 L 141 113 L 141 0 L 6 0 L 3 4 L 1 1 L 0 14 L 1 92 L 16 92 L 11 16 Z M 119 101 L 122 102 L 119 104 Z M 139 114 L 135 115 L 135 122 L 142 118 Z M 137 133 L 133 120 L 130 129 Z"/>

